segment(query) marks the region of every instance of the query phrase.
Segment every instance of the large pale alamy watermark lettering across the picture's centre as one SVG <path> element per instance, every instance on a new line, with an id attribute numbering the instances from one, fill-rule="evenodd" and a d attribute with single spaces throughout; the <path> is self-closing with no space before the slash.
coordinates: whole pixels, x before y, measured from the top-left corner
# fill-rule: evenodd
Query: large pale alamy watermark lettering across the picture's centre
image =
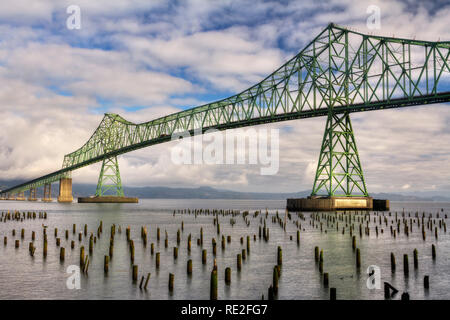
<path id="1" fill-rule="evenodd" d="M 174 164 L 259 165 L 261 175 L 275 175 L 279 169 L 279 130 L 266 128 L 218 131 L 202 129 L 172 134 L 178 144 L 172 148 Z"/>

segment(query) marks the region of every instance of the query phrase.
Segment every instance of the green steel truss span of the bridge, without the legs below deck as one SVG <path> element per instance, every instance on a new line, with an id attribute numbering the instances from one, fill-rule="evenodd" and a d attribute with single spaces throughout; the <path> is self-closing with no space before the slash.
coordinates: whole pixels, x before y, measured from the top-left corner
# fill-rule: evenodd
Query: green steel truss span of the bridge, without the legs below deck
<path id="1" fill-rule="evenodd" d="M 330 24 L 260 83 L 232 97 L 134 124 L 105 114 L 63 168 L 6 192 L 153 144 L 172 134 L 450 101 L 450 42 L 365 35 Z"/>

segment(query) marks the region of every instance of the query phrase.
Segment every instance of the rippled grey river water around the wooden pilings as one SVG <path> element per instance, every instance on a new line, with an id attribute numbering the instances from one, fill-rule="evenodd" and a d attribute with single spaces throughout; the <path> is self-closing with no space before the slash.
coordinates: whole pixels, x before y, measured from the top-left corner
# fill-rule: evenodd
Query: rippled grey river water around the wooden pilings
<path id="1" fill-rule="evenodd" d="M 209 299 L 210 272 L 213 259 L 217 259 L 218 266 L 218 296 L 219 299 L 261 299 L 267 298 L 267 289 L 272 284 L 273 267 L 277 264 L 277 247 L 283 249 L 283 265 L 279 279 L 278 299 L 328 299 L 329 287 L 337 289 L 338 299 L 384 299 L 383 285 L 381 289 L 368 289 L 366 273 L 369 265 L 380 268 L 381 284 L 389 282 L 399 290 L 393 299 L 399 299 L 402 292 L 407 291 L 411 299 L 450 299 L 450 237 L 449 232 L 438 227 L 438 239 L 433 231 L 427 230 L 427 237 L 422 239 L 421 227 L 415 223 L 409 236 L 400 232 L 396 238 L 391 236 L 388 227 L 384 233 L 375 234 L 375 225 L 370 224 L 370 235 L 357 236 L 357 247 L 361 252 L 361 268 L 355 266 L 355 252 L 352 249 L 352 239 L 348 229 L 342 234 L 344 222 L 340 222 L 339 231 L 329 227 L 325 233 L 310 222 L 310 214 L 305 213 L 305 220 L 299 220 L 292 214 L 288 220 L 286 231 L 279 224 L 272 222 L 272 216 L 279 211 L 284 219 L 285 201 L 274 200 L 173 200 L 173 199 L 141 199 L 139 204 L 59 204 L 43 202 L 0 202 L 0 212 L 40 211 L 47 212 L 47 219 L 24 219 L 21 221 L 7 220 L 0 222 L 0 299 Z M 230 224 L 231 216 L 219 216 L 221 235 L 217 235 L 213 225 L 212 215 L 175 214 L 178 209 L 233 209 L 241 212 L 248 210 L 247 219 L 250 225 L 244 223 L 242 216 L 236 216 L 236 224 Z M 268 218 L 267 227 L 270 229 L 268 242 L 259 239 L 258 230 L 261 217 Z M 262 215 L 254 218 L 253 213 L 262 210 Z M 450 213 L 450 203 L 441 202 L 391 202 L 392 216 L 397 211 L 399 219 L 401 213 L 410 212 L 414 219 L 416 212 L 421 217 L 430 213 L 438 226 L 436 214 L 442 219 Z M 385 213 L 388 216 L 388 213 Z M 376 217 L 371 214 L 371 219 Z M 296 242 L 297 226 L 301 223 L 300 245 Z M 69 289 L 67 281 L 70 265 L 79 265 L 79 248 L 83 245 L 86 253 L 89 247 L 89 237 L 80 242 L 78 232 L 88 226 L 88 233 L 97 234 L 100 221 L 103 223 L 103 233 L 94 246 L 90 256 L 88 274 L 81 274 L 80 289 Z M 181 234 L 178 258 L 173 257 L 173 247 L 177 246 L 176 233 L 184 223 Z M 448 219 L 444 219 L 448 224 Z M 72 233 L 72 225 L 76 224 L 77 234 Z M 107 276 L 104 274 L 104 256 L 108 254 L 110 227 L 116 225 L 114 241 L 114 255 L 110 262 Z M 44 259 L 42 254 L 43 225 L 47 226 L 48 255 Z M 118 233 L 118 226 L 122 232 Z M 132 266 L 126 240 L 125 228 L 130 226 L 131 238 L 135 243 L 135 264 L 139 268 L 139 279 L 142 275 L 151 273 L 147 290 L 139 289 L 138 283 L 132 282 Z M 148 229 L 148 245 L 144 247 L 140 230 L 141 226 Z M 54 228 L 59 230 L 61 246 L 65 247 L 65 261 L 59 260 L 59 248 L 56 246 Z M 161 241 L 156 240 L 156 229 L 161 229 Z M 197 246 L 200 227 L 204 231 L 203 247 Z M 20 230 L 25 229 L 25 237 L 21 239 Z M 379 226 L 380 228 L 380 226 Z M 16 235 L 12 235 L 12 230 Z M 64 231 L 69 230 L 66 240 Z M 303 230 L 304 229 L 304 230 Z M 358 229 L 356 229 L 357 231 Z M 402 226 L 403 230 L 403 226 Z M 34 245 L 36 252 L 31 257 L 28 245 L 31 241 L 31 231 L 36 232 Z M 169 245 L 165 248 L 164 234 L 167 231 Z M 192 234 L 192 251 L 187 252 L 187 237 Z M 231 236 L 231 243 L 226 249 L 221 249 L 221 236 Z M 253 235 L 256 234 L 256 241 Z M 236 269 L 236 255 L 246 248 L 246 236 L 251 236 L 251 249 L 247 259 L 242 263 L 240 272 Z M 7 245 L 3 245 L 4 236 L 8 237 Z M 292 240 L 290 237 L 293 237 Z M 217 239 L 217 254 L 212 254 L 211 239 Z M 244 237 L 244 244 L 240 243 Z M 20 240 L 20 247 L 15 248 L 15 239 Z M 70 248 L 71 240 L 75 240 L 75 248 Z M 150 253 L 150 243 L 155 243 L 155 251 L 160 252 L 161 267 L 155 267 L 155 256 Z M 431 256 L 431 246 L 436 246 L 436 259 Z M 314 247 L 323 250 L 324 272 L 329 274 L 329 286 L 323 285 L 321 273 L 314 261 Z M 419 252 L 419 267 L 413 267 L 413 250 Z M 207 250 L 207 263 L 202 265 L 201 251 Z M 397 271 L 391 272 L 390 253 L 393 252 L 397 260 Z M 408 276 L 403 273 L 403 255 L 409 255 Z M 186 273 L 188 259 L 193 261 L 193 274 Z M 232 269 L 231 285 L 224 283 L 224 270 Z M 169 292 L 169 273 L 175 276 L 174 290 Z M 424 275 L 430 276 L 430 289 L 423 287 Z"/>

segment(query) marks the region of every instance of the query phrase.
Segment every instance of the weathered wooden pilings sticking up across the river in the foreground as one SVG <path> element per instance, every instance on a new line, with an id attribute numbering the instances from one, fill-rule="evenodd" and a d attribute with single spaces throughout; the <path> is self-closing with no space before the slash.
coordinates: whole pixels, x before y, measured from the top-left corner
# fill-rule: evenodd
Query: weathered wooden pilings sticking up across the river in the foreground
<path id="1" fill-rule="evenodd" d="M 276 211 L 274 214 L 270 214 L 266 209 L 254 211 L 250 213 L 249 211 L 239 211 L 239 210 L 223 210 L 223 209 L 184 209 L 184 210 L 174 210 L 173 216 L 179 215 L 181 217 L 181 223 L 176 230 L 176 233 L 169 234 L 167 230 L 162 230 L 160 226 L 140 226 L 140 239 L 136 241 L 134 238 L 135 234 L 130 226 L 124 226 L 125 238 L 117 239 L 117 235 L 122 234 L 122 226 L 112 224 L 109 229 L 105 239 L 108 239 L 109 246 L 107 250 L 96 250 L 95 246 L 97 241 L 104 236 L 103 222 L 99 221 L 92 230 L 87 224 L 76 225 L 72 224 L 70 229 L 58 229 L 53 228 L 53 237 L 55 239 L 54 245 L 59 248 L 59 260 L 61 263 L 65 263 L 66 260 L 66 248 L 70 250 L 76 250 L 75 247 L 78 245 L 79 250 L 79 266 L 82 273 L 87 277 L 89 275 L 89 267 L 91 266 L 92 257 L 94 254 L 100 254 L 103 261 L 103 272 L 107 277 L 111 273 L 111 266 L 114 264 L 114 247 L 116 241 L 126 241 L 127 244 L 127 254 L 129 255 L 130 262 L 130 274 L 131 281 L 137 288 L 143 291 L 148 290 L 148 286 L 151 283 L 151 273 L 146 267 L 139 266 L 135 259 L 135 246 L 141 245 L 143 250 L 149 250 L 152 261 L 156 270 L 165 270 L 166 266 L 161 265 L 161 255 L 171 254 L 174 263 L 179 263 L 180 261 L 180 250 L 186 250 L 185 261 L 186 274 L 188 277 L 193 274 L 193 265 L 203 265 L 204 271 L 210 272 L 210 298 L 218 299 L 218 287 L 219 285 L 231 286 L 232 285 L 232 270 L 235 268 L 235 272 L 241 273 L 243 271 L 243 264 L 249 259 L 252 252 L 252 242 L 261 241 L 261 243 L 267 243 L 271 241 L 270 231 L 269 231 L 269 221 L 272 223 L 273 228 L 278 228 L 279 231 L 288 235 L 288 239 L 292 241 L 292 245 L 301 247 L 302 244 L 302 233 L 307 232 L 319 232 L 326 236 L 332 232 L 341 234 L 342 236 L 348 236 L 350 239 L 349 250 L 354 255 L 354 270 L 360 272 L 362 265 L 364 263 L 364 256 L 359 248 L 359 242 L 362 238 L 372 238 L 378 237 L 391 237 L 392 239 L 397 239 L 400 237 L 408 238 L 414 233 L 421 234 L 423 241 L 433 242 L 429 246 L 431 257 L 433 260 L 436 259 L 436 243 L 441 236 L 447 231 L 446 220 L 447 214 L 437 212 L 435 214 L 421 212 L 367 212 L 367 211 L 343 211 L 343 212 L 327 212 L 327 213 L 288 213 L 287 211 L 280 214 Z M 210 225 L 202 224 L 198 227 L 197 233 L 185 234 L 185 219 L 197 219 L 198 216 L 211 216 Z M 7 211 L 2 212 L 1 221 L 24 221 L 26 219 L 47 219 L 46 212 L 20 212 L 20 211 Z M 257 233 L 250 233 L 242 235 L 240 237 L 235 237 L 232 239 L 230 234 L 227 234 L 227 230 L 232 229 L 238 221 L 241 221 L 244 227 L 249 228 L 252 223 L 257 223 Z M 291 224 L 294 228 L 287 228 L 287 225 Z M 309 224 L 309 228 L 305 226 Z M 213 230 L 208 234 L 211 236 L 210 240 L 206 239 L 204 230 L 208 228 Z M 91 231 L 89 231 L 91 230 Z M 253 228 L 255 230 L 255 228 Z M 17 236 L 20 232 L 20 239 Z M 31 241 L 28 243 L 28 250 L 31 257 L 37 254 L 42 254 L 45 258 L 48 257 L 48 243 L 49 243 L 49 230 L 48 227 L 42 224 L 42 229 L 37 232 L 42 232 L 42 241 L 38 243 L 36 241 L 36 231 L 31 230 Z M 107 232 L 107 231 L 106 231 Z M 164 238 L 161 236 L 162 232 Z M 429 235 L 427 236 L 427 233 Z M 17 236 L 16 236 L 17 234 Z M 21 242 L 25 242 L 26 230 L 21 228 L 16 233 L 16 229 L 10 231 L 12 237 L 12 243 L 14 247 L 19 249 L 21 247 Z M 71 239 L 70 238 L 71 235 Z M 153 236 L 152 236 L 153 235 Z M 170 242 L 169 242 L 170 239 Z M 63 246 L 62 240 L 65 240 L 66 245 Z M 164 241 L 164 250 L 159 249 L 160 242 Z M 194 241 L 195 245 L 192 245 Z M 211 251 L 204 247 L 205 241 L 211 241 Z M 230 250 L 230 245 L 232 241 L 239 242 L 239 251 Z M 185 246 L 182 245 L 185 243 Z M 155 244 L 157 248 L 155 248 Z M 4 246 L 8 245 L 8 235 L 4 235 Z M 284 244 L 286 245 L 286 244 Z M 287 244 L 289 245 L 289 243 Z M 162 244 L 161 244 L 162 246 Z M 170 249 L 171 248 L 171 249 Z M 196 249 L 197 248 L 197 249 Z M 157 251 L 158 250 L 158 251 Z M 199 250 L 201 252 L 201 259 L 196 261 L 193 259 L 192 252 L 194 250 Z M 235 265 L 224 265 L 218 266 L 216 256 L 218 251 L 222 254 L 230 254 L 235 256 Z M 400 257 L 403 261 L 403 274 L 407 278 L 410 272 L 410 258 L 412 257 L 413 264 L 412 268 L 417 270 L 420 268 L 419 260 L 420 253 L 416 248 L 411 250 L 411 252 L 404 252 Z M 329 291 L 330 299 L 337 298 L 336 279 L 333 278 L 333 274 L 330 274 L 326 269 L 324 264 L 326 252 L 319 246 L 314 247 L 314 261 L 317 268 L 318 274 L 320 274 L 321 285 L 324 289 Z M 208 259 L 209 257 L 209 259 Z M 312 257 L 311 257 L 312 258 Z M 391 271 L 392 273 L 397 272 L 396 261 L 399 257 L 396 257 L 394 252 L 390 254 L 389 257 L 391 261 Z M 423 258 L 422 258 L 423 259 Z M 210 269 L 208 267 L 208 261 L 210 261 Z M 283 274 L 283 248 L 281 245 L 277 245 L 276 253 L 274 253 L 274 261 L 276 264 L 272 268 L 272 277 L 270 281 L 268 280 L 267 289 L 267 299 L 277 299 L 280 290 L 280 279 Z M 166 260 L 167 262 L 167 260 Z M 224 277 L 223 283 L 219 282 L 218 273 L 222 270 Z M 156 275 L 160 276 L 159 273 Z M 161 275 L 163 276 L 163 275 Z M 176 290 L 177 279 L 175 274 L 167 274 L 168 289 L 169 293 L 173 294 Z M 263 280 L 263 279 L 262 279 Z M 426 290 L 430 287 L 430 276 L 424 275 L 423 285 Z M 396 292 L 396 289 L 389 283 L 385 283 L 385 297 L 386 299 L 392 298 L 391 292 Z M 262 299 L 265 298 L 265 292 L 261 295 Z M 402 295 L 403 299 L 409 298 L 408 294 Z"/>

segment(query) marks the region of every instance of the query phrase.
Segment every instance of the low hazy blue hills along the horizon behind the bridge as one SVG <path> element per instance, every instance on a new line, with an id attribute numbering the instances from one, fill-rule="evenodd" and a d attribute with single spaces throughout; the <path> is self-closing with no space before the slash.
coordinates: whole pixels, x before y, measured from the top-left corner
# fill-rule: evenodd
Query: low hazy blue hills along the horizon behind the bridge
<path id="1" fill-rule="evenodd" d="M 24 181 L 1 181 L 0 189 L 12 187 Z M 86 197 L 95 194 L 96 185 L 93 184 L 73 184 L 73 196 Z M 125 194 L 129 197 L 138 197 L 141 199 L 255 199 L 255 200 L 283 200 L 287 198 L 307 197 L 311 191 L 300 192 L 238 192 L 231 190 L 215 189 L 211 187 L 198 188 L 169 188 L 169 187 L 124 187 Z M 420 194 L 420 193 L 419 193 Z M 436 193 L 438 194 L 438 193 Z M 52 188 L 52 197 L 58 196 L 58 185 Z M 414 194 L 400 193 L 372 193 L 375 199 L 388 199 L 391 201 L 450 201 L 449 196 L 430 195 L 418 196 Z"/>

